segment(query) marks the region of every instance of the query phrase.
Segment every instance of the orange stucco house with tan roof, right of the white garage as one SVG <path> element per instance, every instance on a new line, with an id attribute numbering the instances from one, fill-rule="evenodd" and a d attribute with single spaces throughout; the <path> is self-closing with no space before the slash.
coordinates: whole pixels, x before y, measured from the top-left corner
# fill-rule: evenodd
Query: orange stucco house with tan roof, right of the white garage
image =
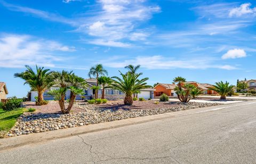
<path id="1" fill-rule="evenodd" d="M 176 84 L 159 83 L 154 87 L 154 96 L 158 97 L 161 96 L 163 93 L 167 94 L 167 96 L 177 96 L 177 94 L 174 91 L 174 88 L 176 86 Z"/>

